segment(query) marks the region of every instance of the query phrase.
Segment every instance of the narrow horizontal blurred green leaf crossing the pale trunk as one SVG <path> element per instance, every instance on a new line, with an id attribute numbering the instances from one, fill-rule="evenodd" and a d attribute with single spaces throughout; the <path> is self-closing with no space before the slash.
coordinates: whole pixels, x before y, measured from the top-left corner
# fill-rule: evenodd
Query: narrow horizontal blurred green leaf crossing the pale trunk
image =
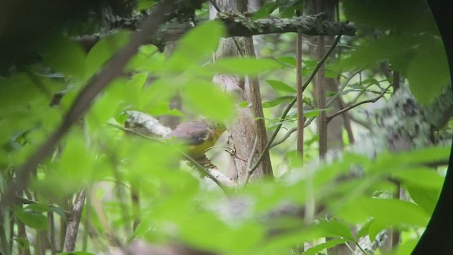
<path id="1" fill-rule="evenodd" d="M 206 69 L 221 74 L 253 75 L 282 67 L 284 65 L 275 60 L 231 57 L 217 60 L 214 64 L 207 66 Z"/>

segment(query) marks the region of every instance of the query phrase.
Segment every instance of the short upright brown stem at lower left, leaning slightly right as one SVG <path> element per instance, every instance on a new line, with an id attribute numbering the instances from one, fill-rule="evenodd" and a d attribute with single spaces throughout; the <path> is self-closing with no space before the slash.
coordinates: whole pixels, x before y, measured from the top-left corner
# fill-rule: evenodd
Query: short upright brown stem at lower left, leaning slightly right
<path id="1" fill-rule="evenodd" d="M 77 233 L 79 233 L 79 223 L 82 217 L 82 210 L 84 210 L 85 198 L 85 191 L 80 191 L 77 194 L 74 205 L 72 205 L 71 217 L 68 217 L 66 236 L 64 237 L 63 251 L 74 251 Z"/>

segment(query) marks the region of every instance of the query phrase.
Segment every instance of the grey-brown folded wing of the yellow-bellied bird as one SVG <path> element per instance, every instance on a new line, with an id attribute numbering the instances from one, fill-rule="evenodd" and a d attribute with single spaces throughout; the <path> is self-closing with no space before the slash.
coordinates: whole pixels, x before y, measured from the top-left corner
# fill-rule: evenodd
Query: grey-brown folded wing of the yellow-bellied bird
<path id="1" fill-rule="evenodd" d="M 188 145 L 202 144 L 212 132 L 210 126 L 202 122 L 192 121 L 180 123 L 166 138 L 172 138 L 177 142 L 185 142 Z"/>

